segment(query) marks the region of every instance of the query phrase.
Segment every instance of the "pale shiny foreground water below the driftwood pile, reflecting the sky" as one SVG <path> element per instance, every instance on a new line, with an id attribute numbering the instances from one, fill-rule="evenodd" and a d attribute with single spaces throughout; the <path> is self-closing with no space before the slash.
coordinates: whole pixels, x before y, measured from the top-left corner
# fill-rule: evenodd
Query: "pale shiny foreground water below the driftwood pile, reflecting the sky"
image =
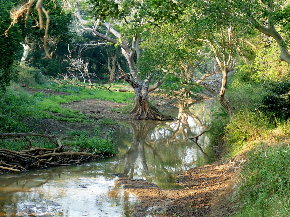
<path id="1" fill-rule="evenodd" d="M 137 198 L 102 163 L 0 176 L 0 216 L 128 216 Z"/>

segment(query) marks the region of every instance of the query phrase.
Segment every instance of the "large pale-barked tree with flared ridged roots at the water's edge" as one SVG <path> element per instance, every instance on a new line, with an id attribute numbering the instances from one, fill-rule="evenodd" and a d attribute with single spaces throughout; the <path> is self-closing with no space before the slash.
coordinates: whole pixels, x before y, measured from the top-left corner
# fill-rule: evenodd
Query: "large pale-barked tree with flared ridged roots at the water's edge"
<path id="1" fill-rule="evenodd" d="M 109 7 L 108 12 L 104 12 L 107 7 Z M 94 14 L 93 25 L 86 25 L 81 21 L 84 19 L 79 19 L 80 25 L 82 30 L 91 31 L 96 37 L 121 48 L 130 70 L 124 72 L 119 67 L 121 78 L 131 84 L 135 93 L 135 105 L 131 113 L 136 114 L 140 119 L 172 119 L 151 107 L 148 100 L 148 93 L 162 84 L 164 71 L 144 72 L 140 71 L 136 65 L 136 60 L 142 55 L 139 44 L 152 31 L 154 27 L 152 16 L 154 12 L 158 12 L 158 8 L 151 1 L 146 1 L 145 5 L 144 1 L 127 0 L 119 4 L 110 1 L 94 1 L 91 10 Z M 106 16 L 106 19 L 103 15 Z M 81 16 L 80 13 L 77 17 L 79 18 L 79 16 Z M 164 16 L 168 16 L 168 14 Z M 155 84 L 152 86 L 150 86 L 151 80 L 155 80 Z"/>

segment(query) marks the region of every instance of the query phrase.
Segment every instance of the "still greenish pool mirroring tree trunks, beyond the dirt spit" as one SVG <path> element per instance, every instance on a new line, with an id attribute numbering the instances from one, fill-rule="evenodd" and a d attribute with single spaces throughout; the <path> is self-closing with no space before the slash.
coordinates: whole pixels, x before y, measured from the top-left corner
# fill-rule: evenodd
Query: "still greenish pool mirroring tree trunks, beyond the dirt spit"
<path id="1" fill-rule="evenodd" d="M 117 130 L 120 163 L 114 172 L 128 174 L 130 179 L 146 179 L 163 188 L 178 187 L 174 174 L 216 159 L 206 134 L 198 143 L 189 139 L 207 129 L 211 103 L 176 103 L 178 110 L 166 110 L 178 119 L 171 122 L 121 122 Z"/>

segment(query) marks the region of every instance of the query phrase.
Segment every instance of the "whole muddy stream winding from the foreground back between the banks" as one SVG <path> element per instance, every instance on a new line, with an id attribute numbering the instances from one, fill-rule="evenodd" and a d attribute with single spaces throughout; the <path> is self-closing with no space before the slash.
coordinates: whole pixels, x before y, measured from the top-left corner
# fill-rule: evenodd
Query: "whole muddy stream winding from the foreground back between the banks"
<path id="1" fill-rule="evenodd" d="M 115 131 L 118 154 L 85 165 L 0 175 L 0 216 L 128 216 L 138 203 L 113 173 L 182 188 L 174 175 L 216 160 L 205 134 L 212 101 L 178 103 L 163 111 L 171 122 L 122 121 Z"/>

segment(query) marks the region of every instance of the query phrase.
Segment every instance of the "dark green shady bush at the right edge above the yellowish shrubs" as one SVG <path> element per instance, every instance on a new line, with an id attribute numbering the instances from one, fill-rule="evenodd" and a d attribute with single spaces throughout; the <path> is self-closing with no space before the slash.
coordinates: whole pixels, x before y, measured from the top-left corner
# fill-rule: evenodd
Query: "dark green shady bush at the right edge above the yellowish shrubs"
<path id="1" fill-rule="evenodd" d="M 290 118 L 290 80 L 265 85 L 266 95 L 260 100 L 258 109 L 271 117 Z"/>

